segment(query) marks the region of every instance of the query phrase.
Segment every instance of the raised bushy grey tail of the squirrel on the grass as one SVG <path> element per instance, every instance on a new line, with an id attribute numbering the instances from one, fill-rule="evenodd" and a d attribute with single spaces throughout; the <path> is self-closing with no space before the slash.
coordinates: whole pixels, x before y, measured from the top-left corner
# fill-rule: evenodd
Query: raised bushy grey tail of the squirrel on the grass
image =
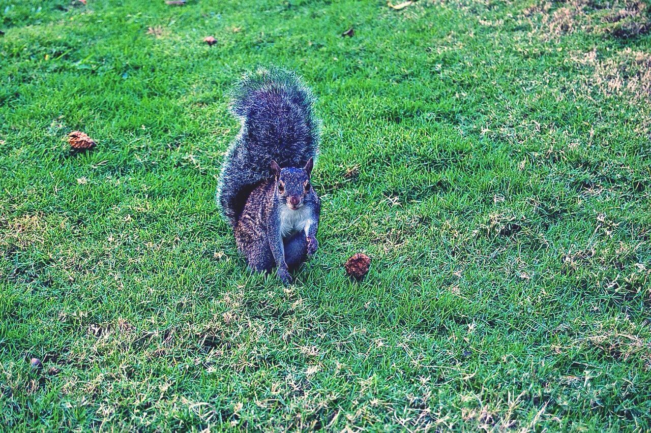
<path id="1" fill-rule="evenodd" d="M 230 111 L 242 129 L 227 151 L 217 189 L 221 212 L 232 226 L 251 190 L 272 176 L 271 160 L 302 167 L 316 157 L 320 124 L 313 102 L 295 73 L 273 66 L 245 75 L 232 90 Z"/>

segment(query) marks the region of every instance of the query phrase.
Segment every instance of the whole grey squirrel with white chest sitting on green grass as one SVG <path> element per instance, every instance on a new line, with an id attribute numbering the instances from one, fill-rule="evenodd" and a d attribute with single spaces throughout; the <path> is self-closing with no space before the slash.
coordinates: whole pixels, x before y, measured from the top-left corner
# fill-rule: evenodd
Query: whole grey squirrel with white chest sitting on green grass
<path id="1" fill-rule="evenodd" d="M 285 283 L 318 248 L 321 205 L 311 183 L 320 122 L 314 96 L 293 72 L 259 68 L 232 91 L 240 133 L 226 152 L 217 202 L 251 269 Z"/>

